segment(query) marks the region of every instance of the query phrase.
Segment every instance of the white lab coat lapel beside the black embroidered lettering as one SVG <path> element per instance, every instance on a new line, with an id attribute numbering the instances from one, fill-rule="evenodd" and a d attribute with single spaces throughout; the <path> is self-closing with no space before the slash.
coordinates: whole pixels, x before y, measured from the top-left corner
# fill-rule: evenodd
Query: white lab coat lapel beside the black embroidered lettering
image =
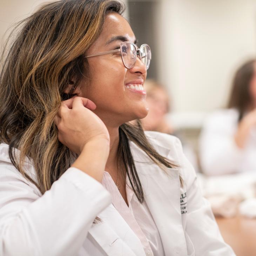
<path id="1" fill-rule="evenodd" d="M 134 158 L 138 160 L 135 165 L 145 201 L 158 228 L 165 255 L 172 255 L 174 252 L 176 255 L 187 255 L 181 218 L 178 169 L 166 168 L 164 171 L 156 164 L 144 161 L 145 155 L 141 150 L 137 149 L 134 154 Z"/>

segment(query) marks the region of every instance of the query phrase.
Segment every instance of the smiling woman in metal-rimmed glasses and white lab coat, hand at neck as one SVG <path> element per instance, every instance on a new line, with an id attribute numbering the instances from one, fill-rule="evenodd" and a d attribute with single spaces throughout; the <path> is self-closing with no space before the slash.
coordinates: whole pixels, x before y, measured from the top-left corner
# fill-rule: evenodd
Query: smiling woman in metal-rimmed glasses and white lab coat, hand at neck
<path id="1" fill-rule="evenodd" d="M 151 56 L 122 11 L 112 0 L 48 4 L 11 47 L 1 255 L 234 255 L 180 142 L 128 123 L 147 115 Z"/>

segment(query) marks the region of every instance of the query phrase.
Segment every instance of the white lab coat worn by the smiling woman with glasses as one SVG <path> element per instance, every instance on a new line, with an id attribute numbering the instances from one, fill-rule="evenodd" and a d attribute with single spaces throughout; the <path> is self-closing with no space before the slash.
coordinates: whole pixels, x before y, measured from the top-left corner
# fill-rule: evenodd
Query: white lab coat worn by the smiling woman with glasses
<path id="1" fill-rule="evenodd" d="M 147 132 L 156 150 L 180 167 L 161 170 L 131 143 L 147 206 L 166 256 L 234 256 L 202 197 L 176 137 Z M 33 166 L 26 163 L 33 176 Z M 179 175 L 184 181 L 180 188 Z M 98 216 L 100 223 L 92 224 Z M 145 256 L 139 238 L 111 204 L 101 183 L 69 168 L 52 188 L 39 190 L 13 167 L 0 145 L 1 256 Z"/>

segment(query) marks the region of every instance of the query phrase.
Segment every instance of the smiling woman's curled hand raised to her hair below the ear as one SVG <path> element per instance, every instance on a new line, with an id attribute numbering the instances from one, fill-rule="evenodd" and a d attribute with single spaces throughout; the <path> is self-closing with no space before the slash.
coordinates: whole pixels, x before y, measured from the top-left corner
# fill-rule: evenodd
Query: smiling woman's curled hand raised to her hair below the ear
<path id="1" fill-rule="evenodd" d="M 63 101 L 55 116 L 59 141 L 77 154 L 90 141 L 106 140 L 109 143 L 105 124 L 91 111 L 95 108 L 91 100 L 75 96 Z"/>

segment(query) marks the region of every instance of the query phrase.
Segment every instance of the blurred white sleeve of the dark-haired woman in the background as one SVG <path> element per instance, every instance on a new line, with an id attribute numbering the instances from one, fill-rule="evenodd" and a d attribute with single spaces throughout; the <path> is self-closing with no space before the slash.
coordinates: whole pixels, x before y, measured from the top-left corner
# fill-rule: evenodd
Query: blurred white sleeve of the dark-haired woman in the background
<path id="1" fill-rule="evenodd" d="M 234 140 L 237 121 L 232 114 L 215 113 L 203 125 L 199 144 L 200 161 L 205 174 L 221 175 L 240 171 L 244 152 Z"/>

